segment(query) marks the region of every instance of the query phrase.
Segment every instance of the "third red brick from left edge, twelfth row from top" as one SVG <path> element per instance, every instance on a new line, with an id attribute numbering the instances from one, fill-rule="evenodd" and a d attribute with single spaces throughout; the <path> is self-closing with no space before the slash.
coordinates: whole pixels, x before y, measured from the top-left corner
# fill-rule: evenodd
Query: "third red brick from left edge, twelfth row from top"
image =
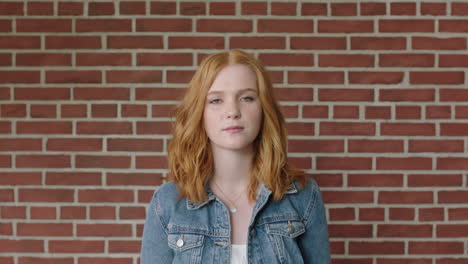
<path id="1" fill-rule="evenodd" d="M 79 190 L 78 201 L 80 203 L 126 203 L 133 202 L 132 190 Z"/>

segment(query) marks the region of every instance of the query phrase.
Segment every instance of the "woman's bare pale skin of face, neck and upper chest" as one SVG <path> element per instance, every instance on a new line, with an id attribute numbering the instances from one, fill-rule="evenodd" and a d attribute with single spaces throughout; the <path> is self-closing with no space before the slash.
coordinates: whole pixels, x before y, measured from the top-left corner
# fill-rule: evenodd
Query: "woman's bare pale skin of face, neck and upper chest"
<path id="1" fill-rule="evenodd" d="M 235 213 L 228 210 L 231 243 L 246 244 L 254 206 L 247 196 L 249 168 L 262 119 L 255 73 L 240 64 L 223 68 L 208 91 L 203 119 L 214 156 L 210 187 L 228 208 L 232 203 L 237 208 Z M 230 126 L 242 129 L 224 130 Z"/>

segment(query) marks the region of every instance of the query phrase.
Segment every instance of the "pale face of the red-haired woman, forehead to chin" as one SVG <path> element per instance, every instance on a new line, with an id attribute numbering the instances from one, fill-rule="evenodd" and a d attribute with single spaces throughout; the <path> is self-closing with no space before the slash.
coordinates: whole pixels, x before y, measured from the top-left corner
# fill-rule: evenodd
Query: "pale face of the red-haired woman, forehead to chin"
<path id="1" fill-rule="evenodd" d="M 213 147 L 251 147 L 262 121 L 255 73 L 242 64 L 223 68 L 208 90 L 203 121 Z"/>

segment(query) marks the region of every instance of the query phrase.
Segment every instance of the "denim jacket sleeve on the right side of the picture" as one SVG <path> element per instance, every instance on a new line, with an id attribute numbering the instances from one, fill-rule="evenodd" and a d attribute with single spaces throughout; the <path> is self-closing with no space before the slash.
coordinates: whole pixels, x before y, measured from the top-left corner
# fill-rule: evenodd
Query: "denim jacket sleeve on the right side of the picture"
<path id="1" fill-rule="evenodd" d="M 298 239 L 302 258 L 307 264 L 330 264 L 328 225 L 322 194 L 315 180 L 311 179 L 307 185 L 312 190 L 304 215 L 306 232 Z"/>

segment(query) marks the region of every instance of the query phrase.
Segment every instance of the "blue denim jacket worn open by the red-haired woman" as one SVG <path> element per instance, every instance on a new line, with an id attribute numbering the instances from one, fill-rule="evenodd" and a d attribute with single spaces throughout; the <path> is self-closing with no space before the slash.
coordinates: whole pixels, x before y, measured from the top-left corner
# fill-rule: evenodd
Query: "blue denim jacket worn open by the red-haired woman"
<path id="1" fill-rule="evenodd" d="M 227 207 L 207 187 L 208 199 L 177 200 L 173 182 L 159 187 L 148 208 L 141 264 L 229 263 L 231 226 Z M 283 199 L 270 199 L 261 185 L 250 219 L 248 263 L 329 264 L 327 220 L 321 192 L 310 179 L 297 183 Z"/>

